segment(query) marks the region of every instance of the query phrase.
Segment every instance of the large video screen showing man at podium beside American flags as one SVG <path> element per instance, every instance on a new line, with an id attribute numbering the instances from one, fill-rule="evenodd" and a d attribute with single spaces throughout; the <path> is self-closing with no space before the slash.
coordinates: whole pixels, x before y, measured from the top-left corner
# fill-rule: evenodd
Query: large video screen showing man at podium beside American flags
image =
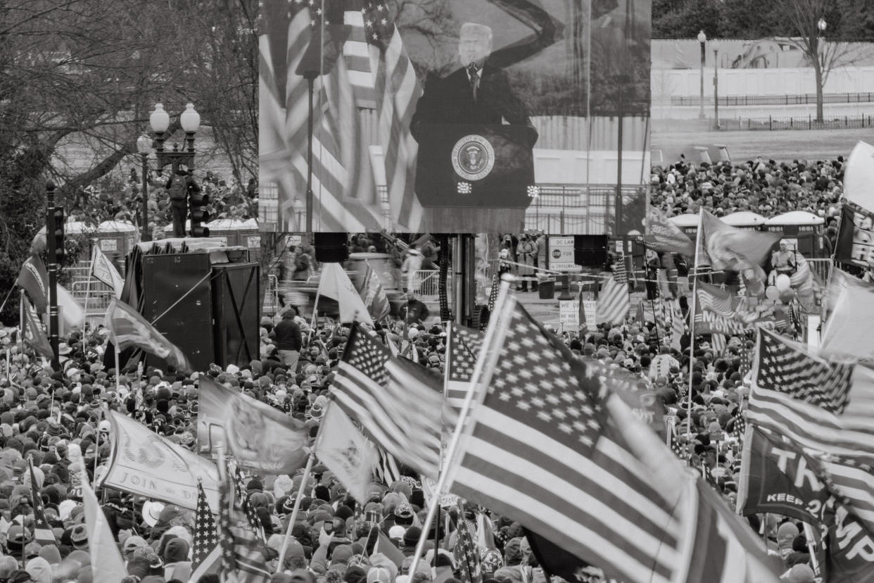
<path id="1" fill-rule="evenodd" d="M 649 0 L 264 0 L 258 32 L 262 229 L 642 231 Z"/>

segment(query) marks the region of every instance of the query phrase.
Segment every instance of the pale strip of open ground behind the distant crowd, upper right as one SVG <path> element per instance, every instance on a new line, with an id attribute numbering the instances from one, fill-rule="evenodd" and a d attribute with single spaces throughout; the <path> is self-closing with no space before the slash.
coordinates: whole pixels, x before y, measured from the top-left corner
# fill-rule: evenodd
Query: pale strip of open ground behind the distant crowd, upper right
<path id="1" fill-rule="evenodd" d="M 746 160 L 755 156 L 777 161 L 807 158 L 819 160 L 848 156 L 859 140 L 874 142 L 874 128 L 864 129 L 813 129 L 784 131 L 722 131 L 664 128 L 663 123 L 654 124 L 652 149 L 662 150 L 667 163 L 674 162 L 680 152 L 686 158 L 697 160 L 694 146 L 725 144 L 732 160 Z"/>

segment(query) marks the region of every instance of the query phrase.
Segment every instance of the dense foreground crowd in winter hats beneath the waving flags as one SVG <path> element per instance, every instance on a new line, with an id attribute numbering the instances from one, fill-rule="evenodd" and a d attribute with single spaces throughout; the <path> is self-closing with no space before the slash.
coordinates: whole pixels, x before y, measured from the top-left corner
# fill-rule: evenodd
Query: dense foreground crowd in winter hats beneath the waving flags
<path id="1" fill-rule="evenodd" d="M 213 365 L 202 374 L 303 420 L 315 434 L 327 405 L 331 371 L 343 355 L 349 330 L 334 325 L 310 330 L 309 326 L 306 319 L 297 316 L 296 309 L 289 307 L 285 313 L 261 322 L 260 359 L 224 369 Z M 442 378 L 447 333 L 439 323 L 407 326 L 396 322 L 378 325 L 377 331 L 401 347 L 402 354 Z M 732 337 L 725 353 L 717 353 L 705 338 L 699 338 L 689 385 L 685 371 L 690 338 L 685 333 L 680 348 L 671 348 L 669 323 L 637 322 L 635 316 L 629 316 L 622 325 L 599 325 L 582 334 L 565 332 L 563 337 L 575 354 L 595 359 L 617 374 L 627 375 L 641 392 L 661 397 L 657 418 L 664 413 L 676 415 L 677 439 L 689 454 L 690 466 L 709 474 L 726 503 L 733 503 L 739 468 L 738 441 L 732 436 L 738 422 L 734 413 L 747 393 L 742 356 L 751 348 L 752 340 Z M 101 406 L 140 420 L 184 448 L 194 448 L 198 374 L 189 376 L 148 367 L 138 378 L 137 368 L 131 364 L 121 371 L 117 382 L 116 371 L 103 364 L 107 337 L 101 326 L 84 333 L 73 331 L 64 339 L 60 348 L 63 371 L 51 371 L 31 350 L 10 343 L 10 338 L 10 334 L 3 334 L 10 361 L 8 375 L 0 381 L 0 531 L 5 528 L 5 536 L 0 537 L 4 553 L 0 580 L 85 583 L 91 580 L 92 569 L 82 508 L 71 475 L 84 468 L 93 477 L 94 468 L 100 471 L 108 461 L 111 436 L 108 421 L 101 419 Z M 689 407 L 691 416 L 686 413 Z M 56 545 L 34 542 L 30 481 L 25 471 L 28 459 L 35 466 L 41 503 L 57 538 Z M 319 465 L 306 476 L 302 471 L 294 475 L 249 475 L 246 496 L 266 533 L 268 567 L 278 572 L 273 580 L 409 581 L 405 569 L 408 571 L 410 556 L 420 538 L 426 506 L 419 476 L 403 469 L 402 473 L 391 483 L 375 479 L 371 497 L 364 504 L 357 504 Z M 290 511 L 303 480 L 307 485 L 298 523 L 292 528 L 294 538 L 284 564 L 278 566 L 276 560 Z M 126 561 L 128 582 L 188 580 L 194 524 L 191 510 L 172 505 L 160 510 L 160 504 L 111 489 L 99 490 L 98 495 Z M 455 583 L 458 574 L 454 570 L 460 566 L 454 546 L 458 521 L 468 521 L 474 531 L 476 521 L 473 509 L 464 516 L 456 508 L 447 511 L 452 513 L 453 526 L 450 532 L 440 533 L 440 548 L 445 550 L 440 550 L 435 561 L 428 556 L 422 561 L 413 575 L 415 581 Z M 484 580 L 543 580 L 521 526 L 504 517 L 491 515 L 490 519 L 494 541 L 480 549 Z M 374 521 L 399 554 L 387 553 L 385 548 L 374 552 L 374 540 L 367 534 Z M 764 529 L 773 552 L 780 554 L 787 569 L 806 564 L 807 545 L 803 535 L 798 534 L 797 524 L 773 521 L 760 525 L 757 517 L 750 517 L 750 522 L 754 528 Z M 787 535 L 790 531 L 794 533 L 791 540 Z M 795 572 L 807 573 L 804 567 Z M 584 580 L 602 580 L 594 567 L 585 574 L 588 579 Z M 217 579 L 206 575 L 200 580 Z"/>

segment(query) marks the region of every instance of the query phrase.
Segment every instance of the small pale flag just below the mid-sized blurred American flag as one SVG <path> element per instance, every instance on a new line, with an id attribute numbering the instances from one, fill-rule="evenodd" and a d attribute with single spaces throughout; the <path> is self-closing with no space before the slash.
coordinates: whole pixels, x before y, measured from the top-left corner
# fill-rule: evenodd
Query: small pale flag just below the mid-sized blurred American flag
<path id="1" fill-rule="evenodd" d="M 334 403 L 329 404 L 324 414 L 315 451 L 319 462 L 334 472 L 346 491 L 359 503 L 367 503 L 367 488 L 373 482 L 377 453 L 349 415 Z"/>

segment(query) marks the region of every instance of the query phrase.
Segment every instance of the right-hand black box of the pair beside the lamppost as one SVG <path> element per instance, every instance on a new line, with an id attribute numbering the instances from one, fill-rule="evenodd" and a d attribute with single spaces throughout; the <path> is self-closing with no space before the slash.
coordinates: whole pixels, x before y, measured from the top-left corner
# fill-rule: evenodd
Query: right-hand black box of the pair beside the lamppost
<path id="1" fill-rule="evenodd" d="M 260 269 L 257 263 L 212 267 L 212 313 L 216 364 L 242 366 L 259 354 Z"/>

